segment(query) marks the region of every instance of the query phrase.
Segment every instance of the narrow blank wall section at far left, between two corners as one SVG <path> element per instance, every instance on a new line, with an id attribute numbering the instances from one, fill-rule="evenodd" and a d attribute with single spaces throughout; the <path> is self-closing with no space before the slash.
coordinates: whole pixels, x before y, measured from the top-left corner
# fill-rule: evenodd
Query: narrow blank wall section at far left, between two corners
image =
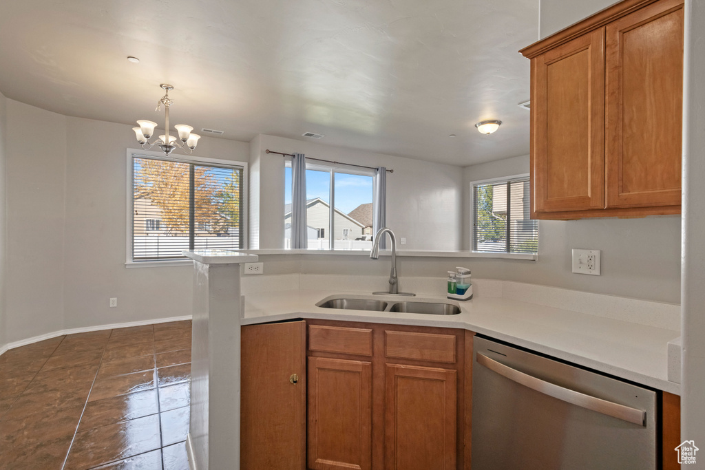
<path id="1" fill-rule="evenodd" d="M 7 100 L 6 341 L 63 328 L 66 116 Z"/>

